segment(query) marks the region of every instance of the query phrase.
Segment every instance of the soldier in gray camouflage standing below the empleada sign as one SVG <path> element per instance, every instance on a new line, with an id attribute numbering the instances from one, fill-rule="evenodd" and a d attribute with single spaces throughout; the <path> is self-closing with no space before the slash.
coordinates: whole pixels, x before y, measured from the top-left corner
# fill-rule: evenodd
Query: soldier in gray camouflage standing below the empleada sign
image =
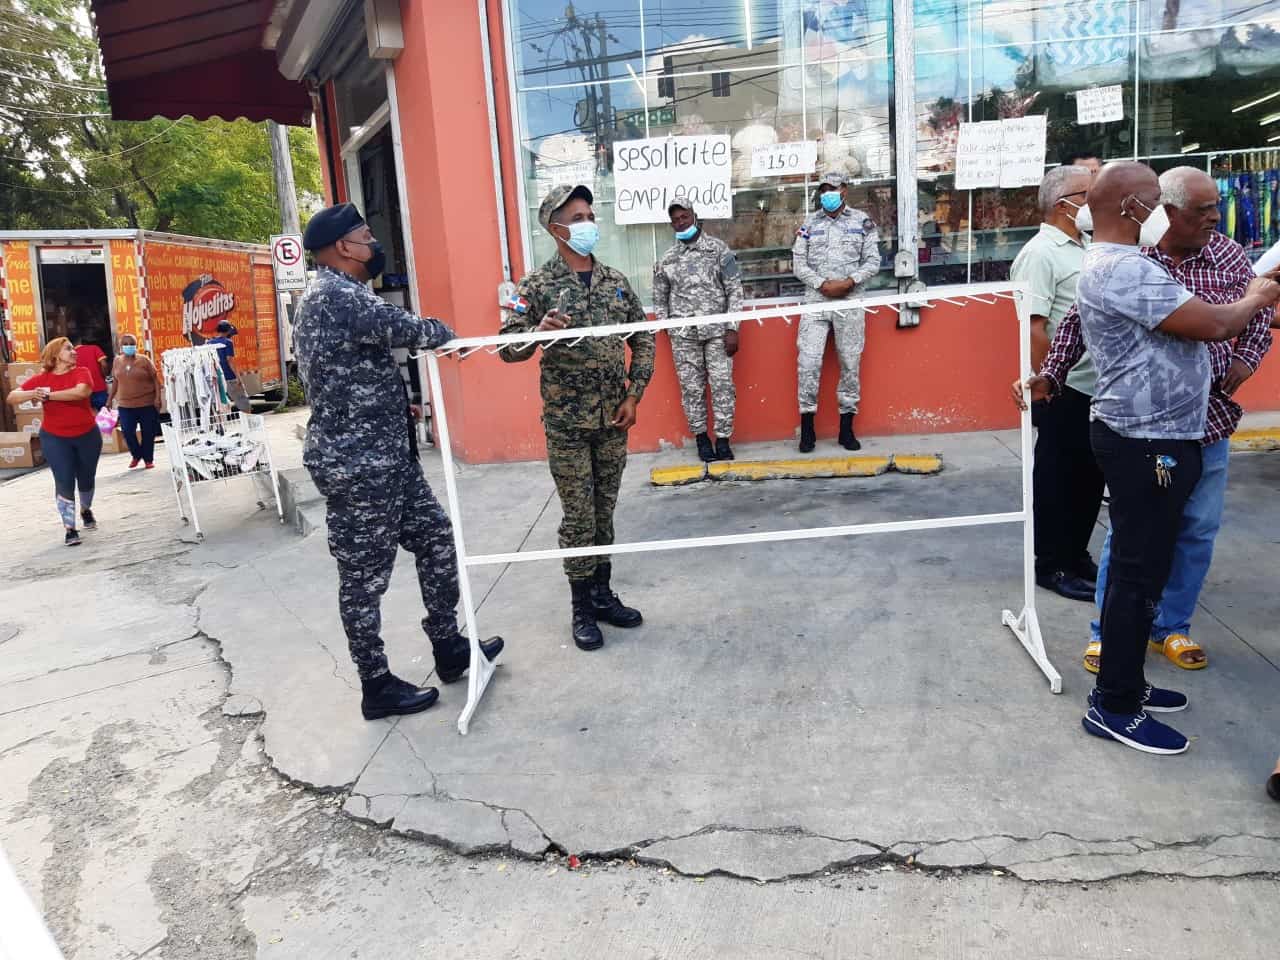
<path id="1" fill-rule="evenodd" d="M 742 308 L 742 276 L 728 244 L 708 237 L 691 206 L 667 207 L 676 243 L 653 268 L 654 317 L 731 314 Z M 680 402 L 703 460 L 733 460 L 733 355 L 737 324 L 712 324 L 668 330 L 671 356 L 680 379 Z M 716 415 L 716 445 L 707 436 L 707 389 Z"/>

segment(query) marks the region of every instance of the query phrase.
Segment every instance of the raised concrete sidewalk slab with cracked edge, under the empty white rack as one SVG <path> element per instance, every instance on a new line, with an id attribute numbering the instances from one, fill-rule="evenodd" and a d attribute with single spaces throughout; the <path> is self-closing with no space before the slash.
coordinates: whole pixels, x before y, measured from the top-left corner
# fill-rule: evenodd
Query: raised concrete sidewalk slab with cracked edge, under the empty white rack
<path id="1" fill-rule="evenodd" d="M 774 449 L 786 447 L 740 456 Z M 1015 451 L 1016 434 L 893 438 L 868 452 L 941 452 L 946 470 L 662 489 L 649 467 L 687 453 L 637 456 L 618 536 L 1016 509 Z M 1153 682 L 1192 698 L 1175 722 L 1196 744 L 1176 759 L 1080 730 L 1089 608 L 1037 591 L 1065 678 L 1050 695 L 1000 623 L 1021 605 L 1011 526 L 623 557 L 616 586 L 646 622 L 607 630 L 598 654 L 568 640 L 558 563 L 476 568 L 481 632 L 504 635 L 508 652 L 466 739 L 454 730 L 463 685 L 425 714 L 358 721 L 320 536 L 211 585 L 201 626 L 223 644 L 233 694 L 265 708 L 282 773 L 349 791 L 357 818 L 461 851 L 558 849 L 751 878 L 886 858 L 1050 879 L 1272 872 L 1280 812 L 1260 781 L 1280 749 L 1280 605 L 1266 559 L 1280 508 L 1261 492 L 1277 480 L 1275 457 L 1233 461 L 1196 625 L 1211 668 L 1149 666 Z M 460 485 L 472 553 L 554 547 L 543 465 L 462 467 Z M 269 643 L 262 609 L 279 612 Z M 402 562 L 387 641 L 393 668 L 421 681 L 420 616 Z"/>

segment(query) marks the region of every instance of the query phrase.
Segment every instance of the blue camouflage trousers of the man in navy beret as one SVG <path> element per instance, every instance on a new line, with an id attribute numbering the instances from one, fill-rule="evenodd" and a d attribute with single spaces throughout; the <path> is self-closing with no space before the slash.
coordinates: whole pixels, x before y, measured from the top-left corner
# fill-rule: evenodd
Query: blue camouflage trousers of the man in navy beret
<path id="1" fill-rule="evenodd" d="M 417 582 L 434 643 L 458 634 L 458 564 L 453 529 L 422 467 L 406 462 L 384 475 L 342 484 L 316 484 L 328 498 L 329 553 L 338 561 L 338 612 L 361 680 L 387 672 L 381 637 L 383 594 L 396 552 L 417 561 Z"/>

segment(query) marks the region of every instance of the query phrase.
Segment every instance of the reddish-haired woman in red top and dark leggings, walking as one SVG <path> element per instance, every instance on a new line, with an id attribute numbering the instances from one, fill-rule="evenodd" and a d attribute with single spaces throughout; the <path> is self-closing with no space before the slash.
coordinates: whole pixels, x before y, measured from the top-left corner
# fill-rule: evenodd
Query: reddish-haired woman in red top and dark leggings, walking
<path id="1" fill-rule="evenodd" d="M 97 526 L 92 509 L 93 480 L 102 453 L 102 434 L 88 402 L 93 384 L 88 370 L 76 366 L 76 348 L 65 337 L 49 342 L 40 355 L 40 366 L 42 372 L 10 393 L 9 403 L 18 406 L 37 399 L 44 404 L 40 448 L 54 471 L 54 500 L 67 527 L 65 543 L 76 547 L 81 541 L 76 530 L 77 486 L 84 529 Z"/>

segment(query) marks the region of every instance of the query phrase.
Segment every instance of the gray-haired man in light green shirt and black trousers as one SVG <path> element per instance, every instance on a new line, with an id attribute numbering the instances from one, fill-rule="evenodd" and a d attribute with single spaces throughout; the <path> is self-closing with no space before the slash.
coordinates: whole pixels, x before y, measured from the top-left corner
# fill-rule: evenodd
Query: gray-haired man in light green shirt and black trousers
<path id="1" fill-rule="evenodd" d="M 1010 279 L 1030 287 L 1032 370 L 1048 355 L 1053 332 L 1075 302 L 1084 264 L 1084 238 L 1075 225 L 1093 174 L 1084 166 L 1056 166 L 1039 189 L 1039 233 L 1019 252 Z M 1102 471 L 1089 445 L 1089 403 L 1097 383 L 1093 362 L 1080 360 L 1066 378 L 1062 396 L 1037 403 L 1038 429 L 1033 475 L 1036 582 L 1071 600 L 1088 602 L 1098 568 L 1089 557 L 1089 536 L 1102 506 Z"/>

